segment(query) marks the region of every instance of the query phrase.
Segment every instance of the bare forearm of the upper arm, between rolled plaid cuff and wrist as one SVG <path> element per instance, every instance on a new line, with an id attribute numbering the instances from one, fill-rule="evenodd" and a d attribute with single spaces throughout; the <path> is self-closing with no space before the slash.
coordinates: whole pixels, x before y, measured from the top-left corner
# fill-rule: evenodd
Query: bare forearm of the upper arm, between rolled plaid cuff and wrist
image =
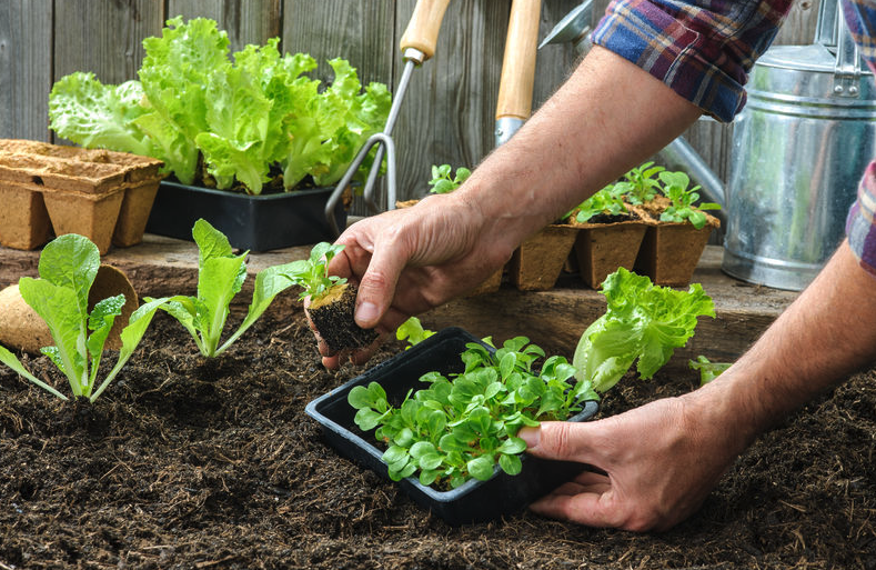
<path id="1" fill-rule="evenodd" d="M 701 111 L 623 58 L 594 48 L 457 192 L 516 241 L 654 154 Z"/>

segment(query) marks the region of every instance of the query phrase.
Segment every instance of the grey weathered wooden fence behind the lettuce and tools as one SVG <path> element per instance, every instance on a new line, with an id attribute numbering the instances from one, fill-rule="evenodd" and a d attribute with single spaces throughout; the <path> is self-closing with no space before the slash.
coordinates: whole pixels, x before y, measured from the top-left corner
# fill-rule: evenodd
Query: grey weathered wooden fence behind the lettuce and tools
<path id="1" fill-rule="evenodd" d="M 581 0 L 544 0 L 540 38 Z M 594 18 L 607 0 L 596 0 Z M 0 138 L 51 141 L 48 93 L 73 71 L 104 83 L 137 77 L 142 40 L 168 18 L 209 17 L 228 31 L 232 50 L 281 38 L 281 49 L 321 62 L 343 57 L 363 82 L 395 89 L 397 44 L 415 0 L 0 0 Z M 393 133 L 399 197 L 426 192 L 431 164 L 474 166 L 494 147 L 493 130 L 511 0 L 453 0 L 435 57 L 414 71 Z M 817 6 L 797 0 L 777 43 L 809 43 Z M 537 56 L 533 108 L 574 69 L 570 46 Z M 323 77 L 322 79 L 328 79 Z M 729 128 L 701 121 L 687 133 L 726 179 Z M 361 207 L 361 204 L 360 204 Z"/>

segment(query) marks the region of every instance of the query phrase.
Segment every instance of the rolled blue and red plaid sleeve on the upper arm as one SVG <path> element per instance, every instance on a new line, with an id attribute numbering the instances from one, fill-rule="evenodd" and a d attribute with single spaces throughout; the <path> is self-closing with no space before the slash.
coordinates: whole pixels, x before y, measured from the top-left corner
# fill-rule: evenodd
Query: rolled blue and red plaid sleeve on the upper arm
<path id="1" fill-rule="evenodd" d="M 789 8 L 791 0 L 613 0 L 592 39 L 729 121 Z"/>

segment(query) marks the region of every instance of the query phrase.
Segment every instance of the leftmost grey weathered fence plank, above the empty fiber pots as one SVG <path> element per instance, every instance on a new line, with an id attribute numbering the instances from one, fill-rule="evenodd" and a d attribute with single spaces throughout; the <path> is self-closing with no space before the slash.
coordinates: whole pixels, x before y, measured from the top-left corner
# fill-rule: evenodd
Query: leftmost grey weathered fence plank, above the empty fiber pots
<path id="1" fill-rule="evenodd" d="M 0 138 L 49 140 L 51 0 L 0 3 Z"/>

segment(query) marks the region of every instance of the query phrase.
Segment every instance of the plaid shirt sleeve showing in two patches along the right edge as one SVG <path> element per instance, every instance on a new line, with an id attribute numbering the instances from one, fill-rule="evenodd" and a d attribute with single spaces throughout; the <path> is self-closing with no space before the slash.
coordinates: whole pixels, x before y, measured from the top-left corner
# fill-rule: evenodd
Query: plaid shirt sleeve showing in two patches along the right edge
<path id="1" fill-rule="evenodd" d="M 845 16 L 852 38 L 864 61 L 876 73 L 876 3 L 873 0 L 844 0 Z M 846 219 L 846 236 L 860 267 L 876 277 L 876 161 L 864 172 L 858 197 Z"/>

